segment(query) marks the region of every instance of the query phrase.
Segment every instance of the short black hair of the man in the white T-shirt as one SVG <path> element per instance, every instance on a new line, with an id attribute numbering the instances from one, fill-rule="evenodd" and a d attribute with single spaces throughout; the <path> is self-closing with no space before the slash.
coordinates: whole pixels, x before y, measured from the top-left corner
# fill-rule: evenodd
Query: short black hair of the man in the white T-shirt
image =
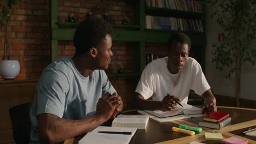
<path id="1" fill-rule="evenodd" d="M 167 51 L 170 52 L 172 48 L 172 44 L 178 42 L 181 44 L 188 44 L 188 48 L 190 50 L 191 47 L 191 40 L 187 34 L 184 33 L 173 33 L 170 35 L 168 39 L 168 44 L 167 44 Z"/>

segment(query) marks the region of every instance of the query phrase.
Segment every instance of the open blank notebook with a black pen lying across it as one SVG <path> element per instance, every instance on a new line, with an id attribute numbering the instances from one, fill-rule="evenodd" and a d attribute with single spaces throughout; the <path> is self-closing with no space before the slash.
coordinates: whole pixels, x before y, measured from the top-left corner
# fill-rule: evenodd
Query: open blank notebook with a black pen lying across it
<path id="1" fill-rule="evenodd" d="M 87 133 L 78 143 L 124 143 L 128 144 L 133 135 L 135 135 L 136 128 L 121 128 L 121 127 L 103 127 L 99 126 L 91 132 Z M 110 134 L 111 132 L 119 134 Z M 130 134 L 122 134 L 124 132 Z"/>

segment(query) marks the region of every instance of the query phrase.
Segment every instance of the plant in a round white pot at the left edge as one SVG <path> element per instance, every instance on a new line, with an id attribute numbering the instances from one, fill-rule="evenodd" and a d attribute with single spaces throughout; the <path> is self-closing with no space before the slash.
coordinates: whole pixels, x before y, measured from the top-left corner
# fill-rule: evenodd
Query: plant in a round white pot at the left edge
<path id="1" fill-rule="evenodd" d="M 21 0 L 16 2 L 21 3 Z M 9 11 L 15 1 L 7 0 L 0 2 L 0 30 L 4 35 L 3 60 L 0 61 L 0 75 L 4 79 L 14 79 L 20 72 L 20 63 L 17 60 L 10 60 L 8 43 L 8 26 L 10 21 Z"/>

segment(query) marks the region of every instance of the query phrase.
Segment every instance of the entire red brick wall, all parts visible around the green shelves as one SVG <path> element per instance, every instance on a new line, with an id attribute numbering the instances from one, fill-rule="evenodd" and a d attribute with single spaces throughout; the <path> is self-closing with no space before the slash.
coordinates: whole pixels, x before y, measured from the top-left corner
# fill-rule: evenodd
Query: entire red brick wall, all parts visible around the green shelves
<path id="1" fill-rule="evenodd" d="M 50 22 L 49 2 L 47 0 L 23 0 L 21 5 L 14 4 L 10 10 L 9 43 L 10 59 L 19 60 L 21 70 L 17 80 L 39 79 L 43 69 L 50 62 Z M 110 23 L 121 24 L 126 18 L 134 24 L 134 2 L 109 1 Z M 68 14 L 74 16 L 75 22 L 85 19 L 89 11 L 92 17 L 101 17 L 103 10 L 101 0 L 59 0 L 59 21 L 66 21 Z M 3 55 L 3 33 L 0 32 L 0 58 Z M 119 65 L 123 65 L 125 73 L 138 71 L 135 68 L 136 44 L 113 43 L 113 58 L 107 74 L 117 73 Z M 72 57 L 74 54 L 72 41 L 59 41 L 58 56 Z M 132 79 L 131 79 L 132 78 Z M 135 79 L 134 79 L 135 78 Z M 2 80 L 2 78 L 0 77 Z M 131 108 L 131 97 L 139 77 L 110 77 L 109 80 L 125 101 L 125 107 Z"/>

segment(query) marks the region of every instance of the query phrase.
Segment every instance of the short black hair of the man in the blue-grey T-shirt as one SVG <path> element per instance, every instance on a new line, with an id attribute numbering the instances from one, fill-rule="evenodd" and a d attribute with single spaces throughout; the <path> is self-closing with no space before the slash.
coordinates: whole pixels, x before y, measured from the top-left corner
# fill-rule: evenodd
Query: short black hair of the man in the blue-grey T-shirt
<path id="1" fill-rule="evenodd" d="M 73 38 L 75 54 L 83 55 L 91 47 L 102 43 L 107 34 L 113 31 L 110 24 L 101 18 L 88 18 L 79 23 Z"/>

